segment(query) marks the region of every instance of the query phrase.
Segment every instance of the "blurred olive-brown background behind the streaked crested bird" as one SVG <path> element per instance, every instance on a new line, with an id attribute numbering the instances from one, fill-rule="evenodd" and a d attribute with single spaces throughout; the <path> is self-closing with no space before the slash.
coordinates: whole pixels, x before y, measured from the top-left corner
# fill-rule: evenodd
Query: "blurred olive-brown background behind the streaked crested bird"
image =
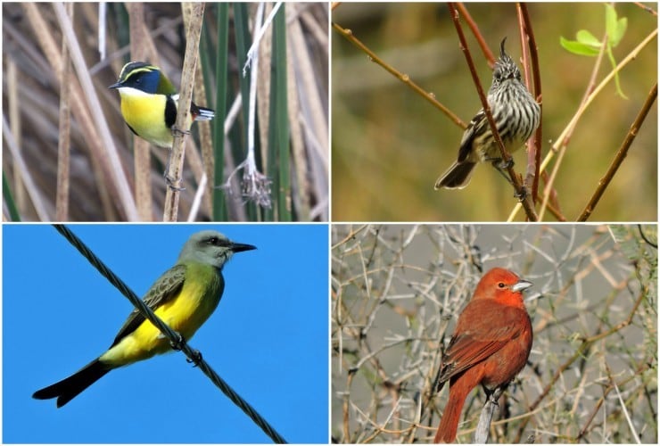
<path id="1" fill-rule="evenodd" d="M 650 4 L 656 8 L 656 4 Z M 491 52 L 507 37 L 507 53 L 520 65 L 515 4 L 466 4 Z M 527 4 L 540 57 L 543 103 L 542 158 L 573 118 L 589 86 L 596 58 L 569 54 L 559 37 L 580 29 L 605 34 L 603 4 Z M 657 17 L 639 4 L 615 4 L 627 31 L 614 49 L 616 62 L 657 28 Z M 466 123 L 481 108 L 446 4 L 352 4 L 335 7 L 332 20 L 351 29 L 367 47 L 408 74 Z M 491 70 L 463 22 L 484 90 Z M 420 95 L 370 62 L 336 30 L 332 45 L 333 220 L 501 221 L 516 199 L 513 188 L 489 165 L 478 166 L 463 190 L 434 191 L 435 180 L 455 161 L 463 129 Z M 607 58 L 596 83 L 612 70 Z M 657 82 L 657 39 L 620 72 L 628 99 L 610 82 L 578 122 L 558 169 L 557 201 L 576 219 L 606 172 L 651 88 Z M 542 159 L 541 158 L 541 159 Z M 523 150 L 514 154 L 524 173 Z M 554 167 L 557 158 L 550 163 Z M 543 183 L 540 183 L 543 186 Z M 655 221 L 657 216 L 657 103 L 591 220 Z M 524 219 L 524 213 L 516 219 Z M 546 214 L 545 219 L 555 219 Z"/>

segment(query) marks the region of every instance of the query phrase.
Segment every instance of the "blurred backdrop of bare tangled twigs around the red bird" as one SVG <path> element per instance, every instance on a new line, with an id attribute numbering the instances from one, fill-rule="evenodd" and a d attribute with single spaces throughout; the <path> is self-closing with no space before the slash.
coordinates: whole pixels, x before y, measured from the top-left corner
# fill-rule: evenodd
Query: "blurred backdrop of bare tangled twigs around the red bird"
<path id="1" fill-rule="evenodd" d="M 333 442 L 431 441 L 442 346 L 494 267 L 532 282 L 534 341 L 489 442 L 657 442 L 656 225 L 333 225 L 332 244 Z"/>

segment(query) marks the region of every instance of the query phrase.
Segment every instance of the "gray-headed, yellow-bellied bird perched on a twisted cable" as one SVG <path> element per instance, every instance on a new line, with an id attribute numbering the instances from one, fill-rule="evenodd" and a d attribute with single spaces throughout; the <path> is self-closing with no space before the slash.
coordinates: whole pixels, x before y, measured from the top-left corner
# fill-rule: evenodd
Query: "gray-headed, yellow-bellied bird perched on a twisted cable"
<path id="1" fill-rule="evenodd" d="M 144 303 L 189 340 L 218 306 L 225 288 L 222 267 L 235 252 L 253 249 L 256 247 L 252 244 L 236 244 L 216 231 L 198 232 L 184 244 L 177 264 L 159 277 L 144 295 Z M 57 398 L 57 407 L 61 408 L 113 368 L 149 359 L 169 349 L 168 338 L 138 310 L 133 310 L 108 351 L 73 375 L 38 390 L 32 397 L 37 400 Z"/>

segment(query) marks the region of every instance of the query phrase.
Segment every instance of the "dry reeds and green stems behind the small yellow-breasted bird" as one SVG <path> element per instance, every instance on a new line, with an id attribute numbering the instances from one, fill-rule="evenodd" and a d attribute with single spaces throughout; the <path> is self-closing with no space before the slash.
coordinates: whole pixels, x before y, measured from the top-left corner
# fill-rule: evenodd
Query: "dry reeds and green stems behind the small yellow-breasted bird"
<path id="1" fill-rule="evenodd" d="M 180 220 L 328 219 L 328 5 L 285 4 L 265 29 L 256 52 L 260 62 L 251 128 L 252 79 L 243 77 L 243 65 L 273 4 L 265 4 L 259 26 L 258 6 L 207 4 L 204 10 L 194 102 L 216 110 L 216 118 L 195 123 L 193 137 L 186 138 Z M 134 143 L 121 118 L 119 94 L 108 86 L 125 63 L 146 61 L 159 66 L 179 89 L 186 51 L 182 4 L 66 7 L 69 21 L 62 19 L 62 4 L 3 4 L 4 202 L 16 208 L 7 219 L 132 219 L 130 200 L 120 187 L 126 186 L 140 220 L 161 220 L 169 152 L 134 150 L 140 139 Z M 60 80 L 63 40 L 84 58 L 82 69 L 65 64 L 66 105 Z M 83 82 L 87 77 L 89 82 Z M 93 96 L 100 109 L 91 105 Z M 225 116 L 220 116 L 220 104 L 226 106 Z M 71 120 L 69 135 L 58 127 L 65 116 Z M 105 125 L 111 140 L 100 131 Z M 209 144 L 203 144 L 202 131 L 213 132 L 212 145 L 210 136 L 205 138 Z M 243 178 L 247 169 L 238 167 L 247 158 L 249 135 L 259 175 Z M 68 158 L 58 155 L 61 141 L 70 141 Z M 120 159 L 119 179 L 111 175 L 119 170 L 109 163 L 111 146 Z M 135 153 L 146 153 L 144 169 L 136 167 Z M 60 184 L 58 162 L 70 166 Z M 210 178 L 206 183 L 203 173 Z M 69 204 L 67 211 L 62 202 Z"/>

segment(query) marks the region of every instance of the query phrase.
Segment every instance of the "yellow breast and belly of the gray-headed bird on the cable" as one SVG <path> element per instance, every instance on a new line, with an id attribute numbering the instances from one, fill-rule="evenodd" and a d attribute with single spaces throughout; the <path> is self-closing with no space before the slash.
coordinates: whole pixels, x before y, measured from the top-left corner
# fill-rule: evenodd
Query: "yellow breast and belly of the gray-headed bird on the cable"
<path id="1" fill-rule="evenodd" d="M 224 281 L 216 268 L 202 264 L 188 265 L 181 291 L 154 312 L 189 341 L 218 307 L 223 288 Z M 120 367 L 169 349 L 169 340 L 151 322 L 145 320 L 99 359 L 113 367 Z"/>

